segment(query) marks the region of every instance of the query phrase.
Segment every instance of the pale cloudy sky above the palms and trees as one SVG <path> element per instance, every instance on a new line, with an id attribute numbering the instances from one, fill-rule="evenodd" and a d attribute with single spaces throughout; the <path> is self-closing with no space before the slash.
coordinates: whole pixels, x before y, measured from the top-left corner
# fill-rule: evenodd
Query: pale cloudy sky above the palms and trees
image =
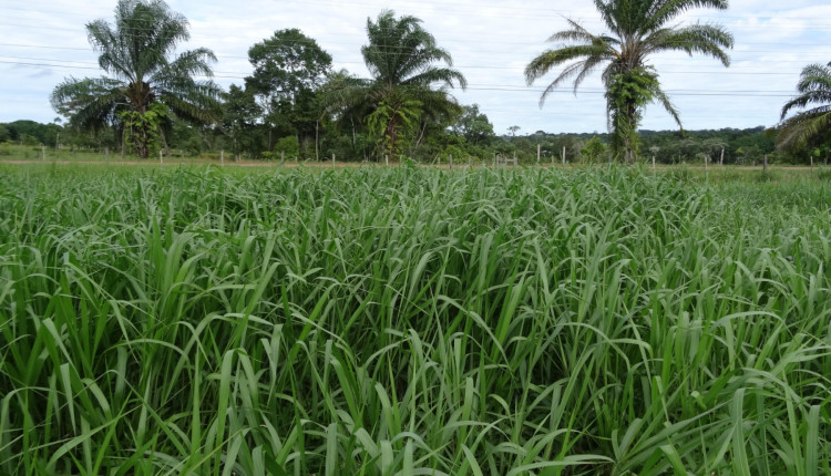
<path id="1" fill-rule="evenodd" d="M 557 89 L 540 106 L 542 90 L 556 72 L 527 85 L 525 65 L 548 48 L 547 38 L 566 18 L 605 32 L 592 0 L 168 0 L 191 23 L 191 41 L 179 51 L 205 46 L 217 55 L 214 80 L 242 84 L 252 72 L 248 49 L 276 30 L 298 28 L 334 59 L 336 69 L 368 76 L 360 54 L 367 19 L 383 9 L 423 20 L 453 66 L 468 79 L 453 95 L 479 104 L 497 134 L 605 132 L 606 108 L 599 73 L 576 95 Z M 0 123 L 52 122 L 49 95 L 64 77 L 104 74 L 98 68 L 84 24 L 112 21 L 114 0 L 0 0 Z M 707 56 L 661 53 L 649 58 L 687 130 L 772 126 L 794 94 L 799 73 L 810 63 L 831 62 L 831 2 L 824 0 L 731 0 L 725 11 L 694 9 L 684 23 L 719 23 L 732 32 L 731 65 Z M 647 107 L 642 128 L 675 128 L 658 105 Z"/>

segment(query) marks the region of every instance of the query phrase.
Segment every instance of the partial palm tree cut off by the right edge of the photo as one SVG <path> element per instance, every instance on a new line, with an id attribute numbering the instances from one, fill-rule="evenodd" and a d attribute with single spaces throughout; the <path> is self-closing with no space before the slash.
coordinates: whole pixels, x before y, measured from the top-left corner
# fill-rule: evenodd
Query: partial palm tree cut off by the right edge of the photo
<path id="1" fill-rule="evenodd" d="M 777 137 L 781 148 L 802 148 L 831 130 L 831 63 L 806 66 L 799 76 L 797 91 L 800 94 L 782 107 L 782 123 Z M 786 120 L 792 110 L 808 105 L 817 106 Z"/>

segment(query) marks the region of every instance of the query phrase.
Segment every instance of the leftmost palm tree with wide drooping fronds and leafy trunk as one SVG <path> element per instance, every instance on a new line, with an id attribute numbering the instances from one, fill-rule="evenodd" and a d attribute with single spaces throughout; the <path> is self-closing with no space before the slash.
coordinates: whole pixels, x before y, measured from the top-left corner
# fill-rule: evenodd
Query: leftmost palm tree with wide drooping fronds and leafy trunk
<path id="1" fill-rule="evenodd" d="M 113 125 L 147 157 L 170 113 L 195 123 L 215 120 L 220 90 L 194 76 L 211 76 L 216 56 L 199 48 L 172 58 L 191 34 L 187 20 L 165 2 L 120 0 L 114 27 L 102 19 L 88 23 L 86 31 L 110 76 L 69 77 L 54 89 L 52 105 L 71 116 L 71 125 L 92 131 Z"/>

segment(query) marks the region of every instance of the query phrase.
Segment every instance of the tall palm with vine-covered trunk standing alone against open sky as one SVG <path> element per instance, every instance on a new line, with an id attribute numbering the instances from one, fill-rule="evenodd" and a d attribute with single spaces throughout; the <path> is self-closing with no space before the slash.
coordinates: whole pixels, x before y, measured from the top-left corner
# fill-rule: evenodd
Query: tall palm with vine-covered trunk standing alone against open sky
<path id="1" fill-rule="evenodd" d="M 643 108 L 658 102 L 681 126 L 678 112 L 660 89 L 658 74 L 647 59 L 653 53 L 685 51 L 712 56 L 725 66 L 730 59 L 725 49 L 732 48 L 732 35 L 716 24 L 668 25 L 695 7 L 727 9 L 727 0 L 594 0 L 606 28 L 612 33 L 594 34 L 573 20 L 568 29 L 554 33 L 548 41 L 560 43 L 536 56 L 525 68 L 529 85 L 552 69 L 565 65 L 545 89 L 540 100 L 562 83 L 573 80 L 574 92 L 601 66 L 606 87 L 606 112 L 612 130 L 612 145 L 628 162 L 637 152 L 637 127 Z"/>

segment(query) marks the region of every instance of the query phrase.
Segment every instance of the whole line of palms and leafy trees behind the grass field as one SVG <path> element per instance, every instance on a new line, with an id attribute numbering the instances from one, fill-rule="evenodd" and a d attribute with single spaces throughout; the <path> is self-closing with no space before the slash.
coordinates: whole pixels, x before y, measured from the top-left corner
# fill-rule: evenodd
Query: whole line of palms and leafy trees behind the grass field
<path id="1" fill-rule="evenodd" d="M 458 162 L 514 154 L 523 161 L 537 154 L 547 159 L 562 155 L 563 147 L 571 161 L 584 162 L 655 157 L 664 163 L 740 164 L 763 154 L 783 162 L 828 155 L 831 64 L 806 68 L 799 96 L 784 105 L 782 122 L 774 128 L 689 133 L 648 59 L 658 52 L 683 51 L 729 66 L 727 50 L 733 38 L 726 29 L 676 23 L 691 8 L 725 10 L 728 2 L 594 3 L 609 32 L 596 34 L 567 20 L 568 27 L 550 38 L 556 45 L 525 70 L 529 84 L 557 72 L 542 94 L 541 106 L 554 89 L 571 82 L 576 92 L 599 71 L 609 132 L 594 137 L 541 132 L 517 136 L 519 127 L 496 135 L 476 105 L 461 105 L 452 95 L 464 90 L 466 80 L 453 68 L 450 52 L 437 44 L 421 20 L 389 10 L 367 19 L 361 53 L 369 77 L 335 71 L 331 55 L 316 40 L 286 29 L 254 44 L 248 50 L 252 74 L 223 91 L 211 80 L 216 61 L 211 50 L 176 52 L 177 44 L 189 39 L 183 15 L 161 0 L 121 0 L 114 23 L 102 19 L 86 24 L 107 75 L 66 79 L 51 101 L 69 120 L 64 128 L 70 134 L 141 157 L 172 148 L 191 153 L 222 148 L 237 158 L 336 155 L 351 161 L 411 157 L 419 162 L 450 155 Z M 640 131 L 646 106 L 655 103 L 678 123 L 677 133 Z"/>

